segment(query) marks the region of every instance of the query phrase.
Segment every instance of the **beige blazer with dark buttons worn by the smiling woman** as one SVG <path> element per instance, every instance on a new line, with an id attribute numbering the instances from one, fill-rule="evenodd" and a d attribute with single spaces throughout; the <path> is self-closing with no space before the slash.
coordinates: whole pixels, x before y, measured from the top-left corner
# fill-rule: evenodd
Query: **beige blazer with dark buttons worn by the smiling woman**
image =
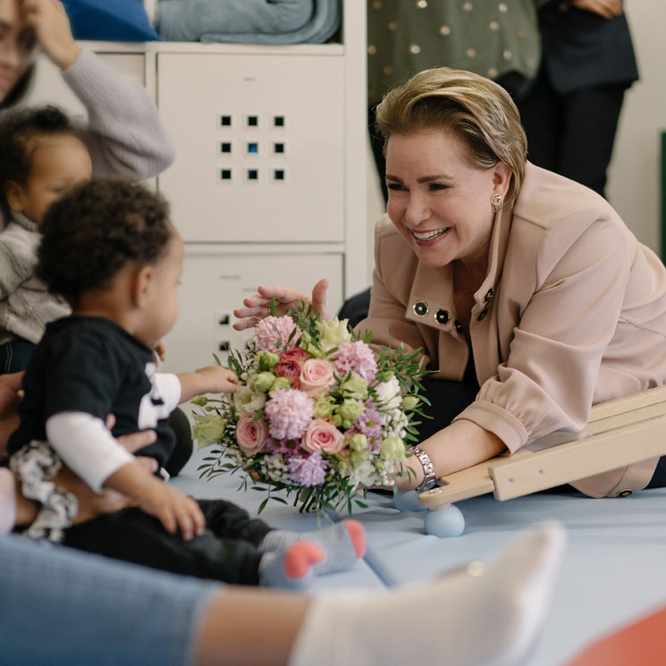
<path id="1" fill-rule="evenodd" d="M 510 452 L 581 430 L 591 406 L 666 383 L 666 269 L 607 201 L 527 164 L 514 207 L 495 215 L 475 294 L 471 348 L 480 392 L 458 418 Z M 375 228 L 373 342 L 422 348 L 435 377 L 461 380 L 469 348 L 451 267 L 419 264 L 387 215 Z M 630 442 L 627 443 L 631 445 Z M 595 497 L 639 490 L 656 459 L 574 485 Z"/>

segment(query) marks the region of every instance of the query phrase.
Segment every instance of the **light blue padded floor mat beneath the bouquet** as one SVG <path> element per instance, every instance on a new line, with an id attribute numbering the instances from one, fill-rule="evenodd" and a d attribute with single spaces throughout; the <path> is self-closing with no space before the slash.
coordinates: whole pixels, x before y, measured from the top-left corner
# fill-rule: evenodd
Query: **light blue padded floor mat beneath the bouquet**
<path id="1" fill-rule="evenodd" d="M 173 483 L 196 497 L 224 497 L 256 513 L 263 493 L 237 492 L 237 476 L 199 481 L 196 464 Z M 368 504 L 354 515 L 366 528 L 365 561 L 347 573 L 316 579 L 313 590 L 427 581 L 460 564 L 493 559 L 536 522 L 561 520 L 569 546 L 544 632 L 525 662 L 529 666 L 563 666 L 596 637 L 666 603 L 666 489 L 604 500 L 539 493 L 498 502 L 485 495 L 459 503 L 467 526 L 451 539 L 424 534 L 423 514 L 395 510 L 390 495 L 368 493 Z M 316 527 L 314 516 L 278 502 L 269 502 L 261 517 L 275 527 Z M 455 608 L 443 599 L 441 612 L 445 621 Z"/>

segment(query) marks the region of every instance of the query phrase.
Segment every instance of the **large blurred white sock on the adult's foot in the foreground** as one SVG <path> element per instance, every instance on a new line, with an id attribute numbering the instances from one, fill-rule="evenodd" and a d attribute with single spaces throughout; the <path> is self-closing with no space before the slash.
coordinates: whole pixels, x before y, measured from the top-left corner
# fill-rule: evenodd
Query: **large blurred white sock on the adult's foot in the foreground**
<path id="1" fill-rule="evenodd" d="M 527 652 L 548 609 L 565 543 L 559 523 L 518 536 L 499 558 L 386 593 L 314 597 L 289 666 L 489 666 Z"/>

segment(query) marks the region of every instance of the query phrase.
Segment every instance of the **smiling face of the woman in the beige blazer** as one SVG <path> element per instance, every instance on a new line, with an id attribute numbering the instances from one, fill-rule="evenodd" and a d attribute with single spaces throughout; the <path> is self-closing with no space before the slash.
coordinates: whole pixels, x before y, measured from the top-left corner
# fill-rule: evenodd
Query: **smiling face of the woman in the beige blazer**
<path id="1" fill-rule="evenodd" d="M 393 134 L 387 144 L 388 214 L 428 266 L 487 258 L 491 197 L 504 196 L 510 169 L 502 162 L 479 169 L 465 151 L 458 137 L 442 130 Z"/>

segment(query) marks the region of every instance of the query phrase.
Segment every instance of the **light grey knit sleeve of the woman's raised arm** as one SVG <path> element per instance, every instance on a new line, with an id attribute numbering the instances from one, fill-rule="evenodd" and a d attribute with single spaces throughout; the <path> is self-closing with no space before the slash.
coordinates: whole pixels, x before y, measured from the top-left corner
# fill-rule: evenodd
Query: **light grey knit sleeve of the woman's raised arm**
<path id="1" fill-rule="evenodd" d="M 88 111 L 82 131 L 95 173 L 145 179 L 173 163 L 173 143 L 145 89 L 85 49 L 63 79 Z"/>

